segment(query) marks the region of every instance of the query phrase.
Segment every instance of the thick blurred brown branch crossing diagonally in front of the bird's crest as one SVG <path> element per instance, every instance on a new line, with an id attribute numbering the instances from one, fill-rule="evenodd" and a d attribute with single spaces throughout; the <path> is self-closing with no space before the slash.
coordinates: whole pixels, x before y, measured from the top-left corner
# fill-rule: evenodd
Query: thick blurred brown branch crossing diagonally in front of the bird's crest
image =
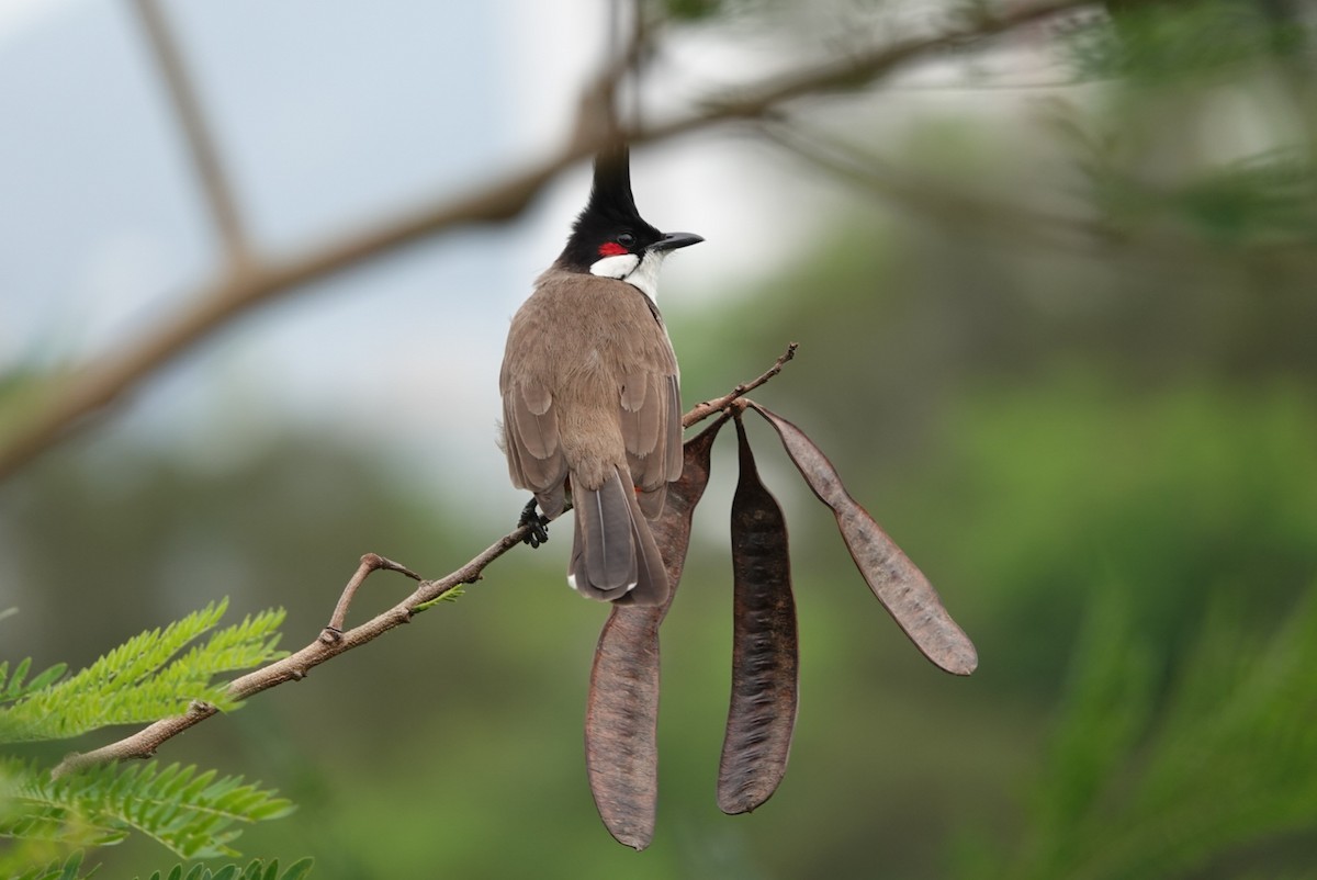
<path id="1" fill-rule="evenodd" d="M 755 87 L 741 88 L 735 95 L 710 99 L 693 113 L 640 129 L 623 130 L 623 136 L 633 144 L 641 144 L 672 138 L 722 123 L 760 119 L 793 100 L 867 88 L 905 65 L 1092 4 L 1093 0 L 1050 0 L 1019 5 L 1000 16 L 979 14 L 938 36 L 898 40 L 874 46 L 867 53 L 856 53 L 844 59 L 806 66 L 774 76 Z M 153 20 L 150 17 L 153 5 L 149 0 L 144 0 L 140 9 L 149 21 Z M 157 25 L 161 22 L 157 21 Z M 644 29 L 637 29 L 636 33 L 637 41 L 645 38 Z M 170 45 L 167 38 L 158 43 L 158 46 L 167 45 Z M 639 53 L 639 46 L 628 50 L 626 54 L 633 54 L 633 58 L 627 63 L 633 63 Z M 165 54 L 169 54 L 169 50 L 162 54 L 162 63 L 169 70 L 174 62 L 165 62 Z M 204 129 L 186 121 L 186 113 L 195 109 L 195 100 L 191 97 L 191 91 L 183 86 L 184 79 L 170 74 L 167 76 L 175 83 L 175 90 L 182 87 L 182 91 L 175 91 L 175 103 L 180 107 L 180 113 L 184 113 L 184 129 L 199 138 L 192 149 L 199 167 L 204 169 L 209 159 L 203 157 L 213 158 L 213 149 L 205 146 L 208 138 L 204 136 Z M 597 88 L 597 84 L 593 88 Z M 137 339 L 126 340 L 117 350 L 50 379 L 38 402 L 29 410 L 11 416 L 11 424 L 3 429 L 0 478 L 12 474 L 71 429 L 84 424 L 88 416 L 121 400 L 149 375 L 250 308 L 423 238 L 477 223 L 500 223 L 518 216 L 558 174 L 605 145 L 605 133 L 610 126 L 591 119 L 598 112 L 601 112 L 598 99 L 583 100 L 577 136 L 568 145 L 529 167 L 489 182 L 466 195 L 445 195 L 290 260 L 275 261 L 252 256 L 242 271 L 236 271 L 233 266 L 227 267 L 220 281 L 187 296 L 179 311 L 154 327 L 145 328 Z M 611 113 L 611 109 L 608 112 Z M 195 121 L 199 123 L 200 119 L 202 113 L 195 112 Z M 213 167 L 217 170 L 219 163 L 216 162 Z M 203 177 L 204 174 L 203 170 Z M 216 177 L 215 180 L 221 182 L 223 178 Z M 227 192 L 227 187 L 219 186 L 216 191 Z M 211 192 L 209 186 L 208 192 Z M 229 223 L 220 219 L 224 211 L 220 206 L 225 198 L 221 195 L 221 200 L 216 202 L 213 192 L 211 194 L 212 211 L 216 212 L 221 229 L 224 223 Z M 234 241 L 241 242 L 236 209 L 232 211 L 230 220 L 234 224 L 230 232 L 238 236 Z"/>

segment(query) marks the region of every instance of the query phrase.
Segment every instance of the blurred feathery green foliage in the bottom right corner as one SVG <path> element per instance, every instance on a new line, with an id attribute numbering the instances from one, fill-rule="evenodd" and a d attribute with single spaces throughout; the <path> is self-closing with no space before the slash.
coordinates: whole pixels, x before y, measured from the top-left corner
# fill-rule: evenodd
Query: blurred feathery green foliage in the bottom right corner
<path id="1" fill-rule="evenodd" d="M 1291 854 L 1276 843 L 1295 846 L 1287 838 L 1317 821 L 1317 591 L 1267 636 L 1249 630 L 1246 605 L 1209 597 L 1163 689 L 1164 651 L 1139 635 L 1138 597 L 1097 591 L 1026 834 L 1013 858 L 980 852 L 961 875 L 1216 876 L 1242 867 L 1241 852 L 1251 868 L 1310 866 L 1310 840 Z"/>

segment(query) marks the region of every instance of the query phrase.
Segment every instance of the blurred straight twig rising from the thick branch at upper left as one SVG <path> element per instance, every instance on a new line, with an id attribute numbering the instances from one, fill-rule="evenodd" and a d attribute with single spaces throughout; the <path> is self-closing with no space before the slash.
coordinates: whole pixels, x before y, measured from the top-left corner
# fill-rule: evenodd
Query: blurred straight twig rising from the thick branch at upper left
<path id="1" fill-rule="evenodd" d="M 194 170 L 205 194 L 211 220 L 215 223 L 215 231 L 224 245 L 225 270 L 237 275 L 245 271 L 250 262 L 249 242 L 242 228 L 237 202 L 233 198 L 233 187 L 229 186 L 224 165 L 220 162 L 215 137 L 205 124 L 205 115 L 202 112 L 202 103 L 196 99 L 196 88 L 188 76 L 187 65 L 183 63 L 183 57 L 173 33 L 170 33 L 169 21 L 159 1 L 133 0 L 133 8 L 137 9 L 146 41 L 151 54 L 155 55 L 155 63 L 159 66 L 161 78 L 169 90 L 170 101 L 178 116 L 183 140 L 187 142 Z"/>

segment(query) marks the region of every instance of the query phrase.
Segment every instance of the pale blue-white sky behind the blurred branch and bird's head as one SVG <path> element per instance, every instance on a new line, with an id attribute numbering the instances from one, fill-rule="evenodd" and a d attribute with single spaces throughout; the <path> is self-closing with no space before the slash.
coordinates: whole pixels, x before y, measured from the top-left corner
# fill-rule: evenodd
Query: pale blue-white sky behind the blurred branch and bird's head
<path id="1" fill-rule="evenodd" d="M 554 149 L 606 43 L 605 8 L 166 7 L 244 217 L 274 252 Z M 705 70 L 744 75 L 748 58 L 678 36 L 665 63 L 686 75 L 660 97 L 694 92 Z M 0 113 L 14 138 L 0 162 L 0 366 L 120 345 L 207 275 L 213 237 L 129 4 L 0 0 Z M 763 150 L 726 136 L 636 154 L 647 219 L 709 240 L 665 267 L 664 308 L 744 290 L 790 256 L 802 212 L 786 207 L 792 187 L 763 186 Z M 400 468 L 440 483 L 502 485 L 507 320 L 587 190 L 582 166 L 514 224 L 421 244 L 241 321 L 146 383 L 100 436 L 224 468 L 292 415 L 387 439 Z M 367 410 L 390 415 L 357 415 Z M 508 486 L 491 505 L 516 497 Z"/>

